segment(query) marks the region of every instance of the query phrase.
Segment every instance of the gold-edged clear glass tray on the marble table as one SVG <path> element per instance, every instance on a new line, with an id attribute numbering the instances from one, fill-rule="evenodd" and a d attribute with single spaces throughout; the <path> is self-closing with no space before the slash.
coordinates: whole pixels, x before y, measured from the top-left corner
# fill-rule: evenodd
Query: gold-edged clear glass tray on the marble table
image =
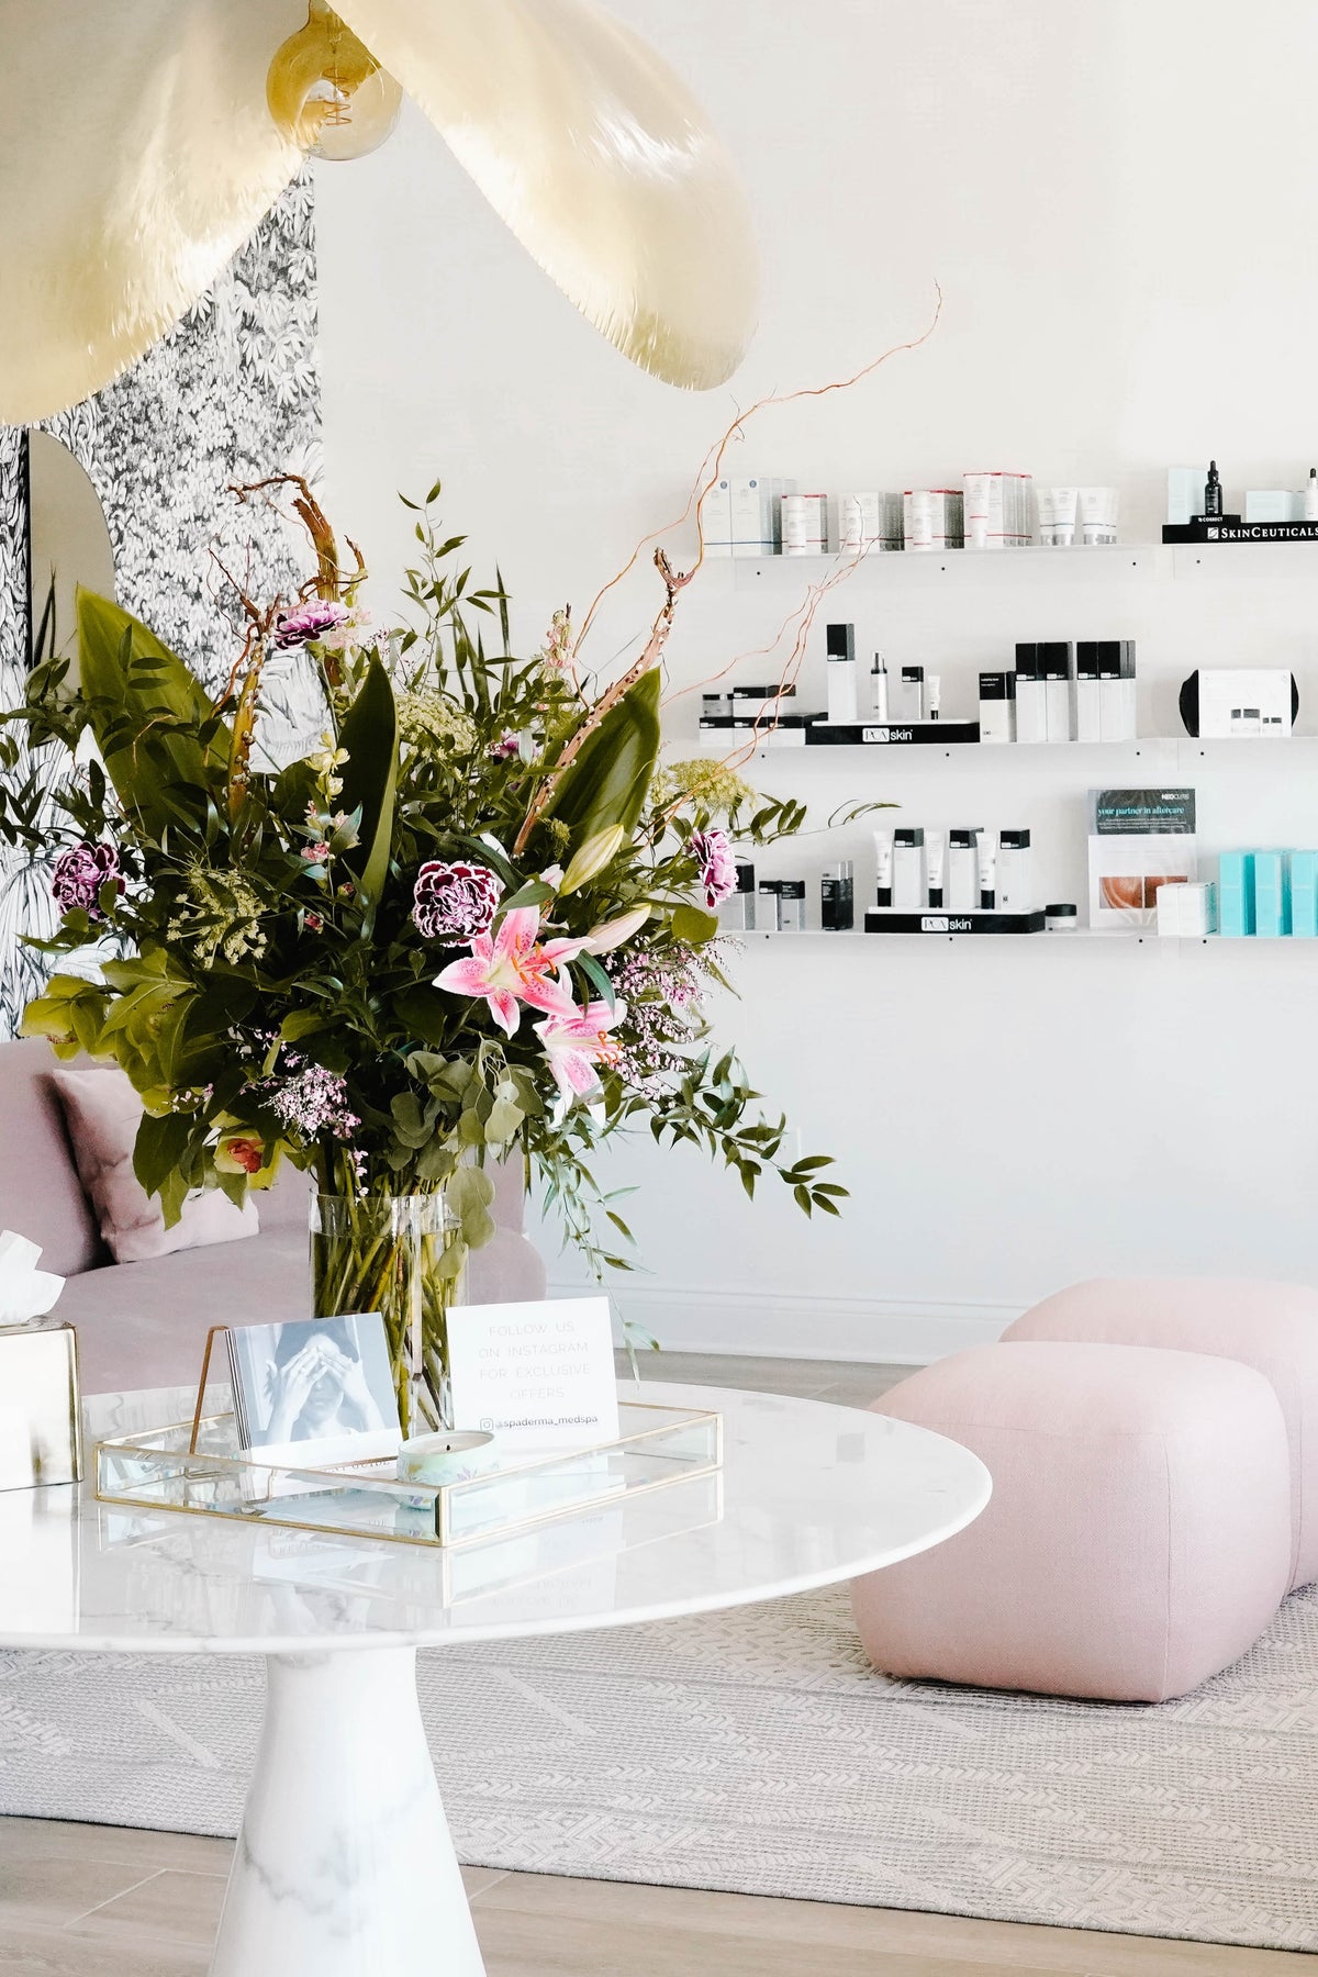
<path id="1" fill-rule="evenodd" d="M 559 1449 L 464 1483 L 401 1483 L 393 1461 L 265 1463 L 239 1449 L 233 1416 L 217 1414 L 101 1441 L 97 1499 L 449 1550 L 626 1503 L 723 1465 L 721 1414 L 622 1400 L 618 1429 L 617 1441 Z"/>

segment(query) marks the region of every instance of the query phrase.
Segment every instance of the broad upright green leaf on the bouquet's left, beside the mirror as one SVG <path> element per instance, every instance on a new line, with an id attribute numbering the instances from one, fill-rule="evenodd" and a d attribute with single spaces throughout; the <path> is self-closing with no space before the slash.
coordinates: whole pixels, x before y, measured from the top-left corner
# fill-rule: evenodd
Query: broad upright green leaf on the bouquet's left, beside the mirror
<path id="1" fill-rule="evenodd" d="M 202 743 L 194 730 L 215 710 L 196 674 L 130 611 L 81 585 L 77 643 L 81 692 L 109 777 L 158 840 L 190 809 L 206 813 L 207 785 L 227 773 L 229 730 L 217 722 Z"/>

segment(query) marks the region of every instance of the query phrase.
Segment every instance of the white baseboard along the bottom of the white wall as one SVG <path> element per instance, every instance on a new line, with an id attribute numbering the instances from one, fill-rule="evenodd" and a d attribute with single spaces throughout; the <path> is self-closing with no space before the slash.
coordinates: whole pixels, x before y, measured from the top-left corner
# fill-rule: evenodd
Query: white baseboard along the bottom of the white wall
<path id="1" fill-rule="evenodd" d="M 549 1281 L 549 1297 L 595 1285 Z M 670 1352 L 737 1352 L 759 1358 L 858 1360 L 927 1366 L 1002 1336 L 1024 1305 L 931 1305 L 800 1291 L 711 1291 L 694 1285 L 607 1285 L 617 1311 Z"/>

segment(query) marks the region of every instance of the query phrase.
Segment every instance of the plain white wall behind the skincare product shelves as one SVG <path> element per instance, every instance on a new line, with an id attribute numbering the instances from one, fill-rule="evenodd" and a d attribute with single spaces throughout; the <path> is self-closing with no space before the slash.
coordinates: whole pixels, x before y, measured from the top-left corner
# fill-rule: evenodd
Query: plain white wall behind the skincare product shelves
<path id="1" fill-rule="evenodd" d="M 947 302 L 927 350 L 771 413 L 741 459 L 802 486 L 941 484 L 982 465 L 1116 480 L 1142 542 L 1168 463 L 1213 453 L 1231 494 L 1296 486 L 1318 459 L 1308 0 L 615 10 L 694 79 L 743 162 L 761 336 L 733 387 L 672 393 L 595 338 L 421 119 L 375 158 L 322 168 L 330 496 L 381 573 L 407 548 L 395 490 L 443 473 L 449 518 L 500 558 L 530 645 L 553 603 L 581 607 L 682 506 L 735 407 L 907 338 L 935 277 Z M 1318 561 L 1278 552 L 1261 571 L 1245 554 L 1207 579 L 1176 579 L 1162 556 L 1095 575 L 1031 556 L 974 581 L 871 567 L 828 615 L 856 621 L 862 650 L 937 662 L 948 712 L 1016 639 L 1134 637 L 1146 731 L 1176 731 L 1192 664 L 1271 660 L 1294 666 L 1318 733 Z M 674 678 L 763 643 L 794 585 L 790 569 L 759 589 L 709 569 L 682 607 Z M 597 662 L 654 601 L 642 575 Z M 1211 844 L 1318 842 L 1318 741 L 1280 773 L 1219 753 L 1120 769 L 784 755 L 761 781 L 818 795 L 822 815 L 889 795 L 935 826 L 1030 824 L 1049 898 L 1079 898 L 1091 781 L 1194 779 Z M 864 890 L 864 834 L 771 870 L 814 880 L 848 850 Z M 739 983 L 721 1028 L 806 1145 L 840 1157 L 854 1198 L 820 1228 L 771 1192 L 751 1208 L 686 1151 L 618 1157 L 618 1184 L 642 1184 L 630 1216 L 652 1269 L 630 1309 L 668 1342 L 921 1358 L 1093 1271 L 1314 1277 L 1312 947 L 755 945 Z"/>

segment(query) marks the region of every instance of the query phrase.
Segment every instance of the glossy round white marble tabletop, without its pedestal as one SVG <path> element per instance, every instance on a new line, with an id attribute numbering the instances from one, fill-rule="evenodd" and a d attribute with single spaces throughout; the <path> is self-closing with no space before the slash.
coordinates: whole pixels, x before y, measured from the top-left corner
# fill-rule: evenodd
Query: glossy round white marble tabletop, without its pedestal
<path id="1" fill-rule="evenodd" d="M 664 1619 L 895 1564 L 952 1536 L 990 1495 L 968 1449 L 905 1421 L 646 1382 L 650 1402 L 723 1414 L 721 1473 L 494 1546 L 441 1554 L 97 1503 L 95 1441 L 186 1419 L 194 1398 L 95 1396 L 89 1481 L 0 1493 L 0 1647 L 439 1647 Z"/>

